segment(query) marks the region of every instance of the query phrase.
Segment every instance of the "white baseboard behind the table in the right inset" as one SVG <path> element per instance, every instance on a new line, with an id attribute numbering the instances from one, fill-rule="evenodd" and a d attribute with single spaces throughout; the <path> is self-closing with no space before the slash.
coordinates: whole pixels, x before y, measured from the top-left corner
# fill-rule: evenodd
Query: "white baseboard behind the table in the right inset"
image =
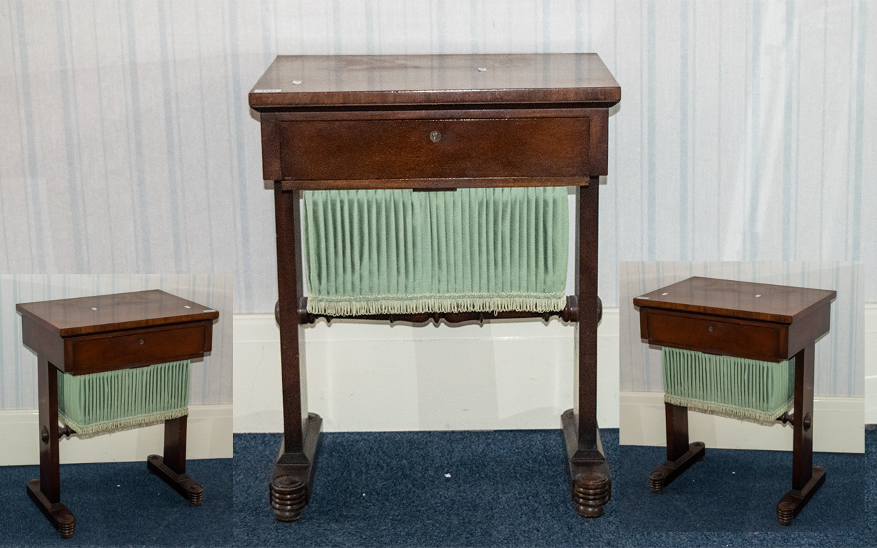
<path id="1" fill-rule="evenodd" d="M 864 398 L 816 397 L 813 451 L 865 452 Z M 667 445 L 663 392 L 621 393 L 621 445 Z M 688 438 L 719 449 L 792 450 L 792 428 L 688 413 Z"/>

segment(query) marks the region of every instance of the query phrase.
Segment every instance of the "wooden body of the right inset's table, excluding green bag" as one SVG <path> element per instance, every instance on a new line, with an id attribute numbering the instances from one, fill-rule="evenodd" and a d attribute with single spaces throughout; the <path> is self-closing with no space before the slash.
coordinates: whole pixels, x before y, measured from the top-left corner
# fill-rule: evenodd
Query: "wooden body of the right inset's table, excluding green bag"
<path id="1" fill-rule="evenodd" d="M 776 505 L 790 525 L 825 481 L 813 466 L 813 368 L 816 339 L 829 331 L 836 291 L 693 277 L 633 299 L 640 336 L 650 345 L 779 362 L 795 358 L 795 408 L 777 420 L 793 423 L 792 488 Z M 653 493 L 703 459 L 688 444 L 688 408 L 665 402 L 667 461 L 649 476 Z"/>

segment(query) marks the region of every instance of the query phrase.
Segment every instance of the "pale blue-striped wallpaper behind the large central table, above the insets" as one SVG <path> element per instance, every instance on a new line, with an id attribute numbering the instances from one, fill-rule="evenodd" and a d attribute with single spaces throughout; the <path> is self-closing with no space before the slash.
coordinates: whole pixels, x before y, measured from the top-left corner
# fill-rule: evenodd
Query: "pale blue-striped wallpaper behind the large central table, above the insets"
<path id="1" fill-rule="evenodd" d="M 269 312 L 246 93 L 274 56 L 510 52 L 596 52 L 621 84 L 607 306 L 619 260 L 877 262 L 866 0 L 7 0 L 0 272 L 233 273 L 235 310 Z"/>

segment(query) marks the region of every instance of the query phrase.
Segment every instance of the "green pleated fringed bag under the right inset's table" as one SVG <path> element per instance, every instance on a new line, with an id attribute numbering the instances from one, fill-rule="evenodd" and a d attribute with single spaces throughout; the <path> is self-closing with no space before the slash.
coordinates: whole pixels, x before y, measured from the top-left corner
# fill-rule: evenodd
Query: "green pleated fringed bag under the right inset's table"
<path id="1" fill-rule="evenodd" d="M 779 363 L 663 347 L 664 401 L 770 423 L 795 403 L 795 359 Z"/>

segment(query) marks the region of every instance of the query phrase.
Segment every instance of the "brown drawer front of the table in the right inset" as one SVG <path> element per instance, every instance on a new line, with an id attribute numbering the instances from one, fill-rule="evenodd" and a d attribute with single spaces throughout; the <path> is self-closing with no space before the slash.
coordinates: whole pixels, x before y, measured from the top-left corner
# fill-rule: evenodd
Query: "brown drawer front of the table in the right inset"
<path id="1" fill-rule="evenodd" d="M 643 310 L 640 310 L 643 313 Z M 781 327 L 649 312 L 649 342 L 739 358 L 781 359 Z"/>

